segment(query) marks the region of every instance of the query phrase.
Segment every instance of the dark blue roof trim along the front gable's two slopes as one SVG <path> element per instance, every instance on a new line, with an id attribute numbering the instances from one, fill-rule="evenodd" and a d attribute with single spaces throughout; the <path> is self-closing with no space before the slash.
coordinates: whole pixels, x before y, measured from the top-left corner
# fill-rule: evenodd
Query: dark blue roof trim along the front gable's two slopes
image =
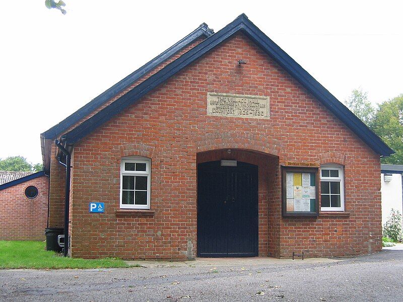
<path id="1" fill-rule="evenodd" d="M 374 132 L 372 132 L 359 118 L 357 118 L 346 106 L 332 96 L 320 85 L 305 69 L 295 62 L 284 50 L 260 31 L 245 14 L 240 15 L 219 32 L 200 42 L 197 46 L 171 62 L 160 71 L 152 75 L 143 83 L 109 104 L 97 114 L 84 121 L 82 124 L 64 135 L 67 143 L 73 144 L 94 131 L 114 115 L 127 106 L 135 103 L 148 92 L 172 77 L 182 68 L 204 55 L 209 50 L 223 42 L 238 31 L 242 31 L 268 55 L 286 69 L 302 86 L 315 96 L 326 108 L 343 121 L 375 152 L 382 156 L 389 156 L 394 151 L 389 148 Z"/>

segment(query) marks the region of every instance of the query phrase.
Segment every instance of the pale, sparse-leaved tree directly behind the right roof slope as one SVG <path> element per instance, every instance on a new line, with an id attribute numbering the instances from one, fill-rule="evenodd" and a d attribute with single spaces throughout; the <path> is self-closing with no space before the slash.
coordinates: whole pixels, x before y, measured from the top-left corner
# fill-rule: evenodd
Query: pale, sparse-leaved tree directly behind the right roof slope
<path id="1" fill-rule="evenodd" d="M 368 101 L 367 92 L 363 92 L 361 88 L 354 89 L 351 96 L 345 101 L 345 105 L 368 127 L 371 126 L 375 109 Z"/>

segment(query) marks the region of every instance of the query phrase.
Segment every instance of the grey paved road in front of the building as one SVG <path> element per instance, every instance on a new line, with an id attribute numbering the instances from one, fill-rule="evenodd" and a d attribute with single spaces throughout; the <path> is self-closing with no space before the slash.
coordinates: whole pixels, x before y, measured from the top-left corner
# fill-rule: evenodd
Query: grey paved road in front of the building
<path id="1" fill-rule="evenodd" d="M 402 301 L 403 251 L 343 261 L 0 270 L 5 301 Z"/>

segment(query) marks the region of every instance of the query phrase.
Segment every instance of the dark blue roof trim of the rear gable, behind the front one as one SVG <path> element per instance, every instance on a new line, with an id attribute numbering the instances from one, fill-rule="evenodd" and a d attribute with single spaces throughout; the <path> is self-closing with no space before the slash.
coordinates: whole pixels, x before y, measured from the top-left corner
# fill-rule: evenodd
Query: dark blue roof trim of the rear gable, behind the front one
<path id="1" fill-rule="evenodd" d="M 117 95 L 119 92 L 124 90 L 125 88 L 129 87 L 131 84 L 135 83 L 139 80 L 143 75 L 147 74 L 155 67 L 160 65 L 162 62 L 170 58 L 172 55 L 180 51 L 182 48 L 186 47 L 187 45 L 193 43 L 194 40 L 199 38 L 200 36 L 210 37 L 214 34 L 214 31 L 209 28 L 206 23 L 202 23 L 199 27 L 197 27 L 194 31 L 188 34 L 183 39 L 176 42 L 174 45 L 169 47 L 163 53 L 156 56 L 154 59 L 146 63 L 145 65 L 141 66 L 136 71 L 132 72 L 131 74 L 127 75 L 126 78 L 119 81 L 115 85 L 113 85 L 108 90 L 104 91 L 102 94 L 97 96 L 88 104 L 81 107 L 72 115 L 66 117 L 60 123 L 54 125 L 49 130 L 43 132 L 41 134 L 42 138 L 50 138 L 54 139 L 59 134 L 62 134 L 74 124 L 78 123 L 81 119 L 86 117 L 87 115 L 91 114 L 94 110 L 102 106 L 106 101 Z"/>

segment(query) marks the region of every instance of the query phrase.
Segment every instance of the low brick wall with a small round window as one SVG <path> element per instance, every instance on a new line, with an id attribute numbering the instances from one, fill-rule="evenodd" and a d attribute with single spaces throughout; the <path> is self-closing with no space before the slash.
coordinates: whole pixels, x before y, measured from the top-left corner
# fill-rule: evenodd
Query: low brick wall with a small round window
<path id="1" fill-rule="evenodd" d="M 38 188 L 29 199 L 25 189 Z M 44 240 L 49 178 L 41 176 L 0 191 L 0 240 Z"/>

